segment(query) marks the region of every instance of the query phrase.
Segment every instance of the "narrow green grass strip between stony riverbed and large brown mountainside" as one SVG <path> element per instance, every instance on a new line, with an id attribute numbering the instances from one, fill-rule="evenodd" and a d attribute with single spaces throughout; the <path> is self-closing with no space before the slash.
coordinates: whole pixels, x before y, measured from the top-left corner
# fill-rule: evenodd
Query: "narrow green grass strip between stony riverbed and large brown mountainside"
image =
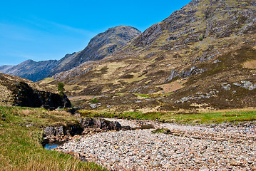
<path id="1" fill-rule="evenodd" d="M 88 117 L 103 117 L 103 118 L 126 118 L 126 119 L 145 119 L 159 120 L 169 123 L 180 124 L 210 124 L 223 122 L 240 122 L 256 120 L 256 110 L 222 110 L 211 113 L 178 113 L 178 112 L 151 112 L 142 113 L 123 112 L 123 113 L 96 113 L 81 110 L 80 113 Z"/>

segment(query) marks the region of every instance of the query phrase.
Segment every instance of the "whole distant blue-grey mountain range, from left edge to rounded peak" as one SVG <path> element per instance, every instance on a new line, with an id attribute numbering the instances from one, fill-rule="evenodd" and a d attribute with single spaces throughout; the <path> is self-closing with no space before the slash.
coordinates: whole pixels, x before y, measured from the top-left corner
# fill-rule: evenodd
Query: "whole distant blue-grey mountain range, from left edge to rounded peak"
<path id="1" fill-rule="evenodd" d="M 27 60 L 16 66 L 1 66 L 0 72 L 20 76 L 31 81 L 40 81 L 61 71 L 68 71 L 85 61 L 97 61 L 116 51 L 140 35 L 138 29 L 130 26 L 116 26 L 91 39 L 88 46 L 78 53 L 66 54 L 61 60 Z"/>

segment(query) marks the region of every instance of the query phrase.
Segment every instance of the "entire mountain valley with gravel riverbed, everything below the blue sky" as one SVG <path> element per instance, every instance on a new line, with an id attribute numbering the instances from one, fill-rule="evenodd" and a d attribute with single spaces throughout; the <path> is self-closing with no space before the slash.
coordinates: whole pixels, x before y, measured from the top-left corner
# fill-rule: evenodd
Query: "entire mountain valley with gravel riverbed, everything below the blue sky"
<path id="1" fill-rule="evenodd" d="M 0 66 L 0 170 L 256 170 L 255 61 L 255 0 L 193 0 Z"/>

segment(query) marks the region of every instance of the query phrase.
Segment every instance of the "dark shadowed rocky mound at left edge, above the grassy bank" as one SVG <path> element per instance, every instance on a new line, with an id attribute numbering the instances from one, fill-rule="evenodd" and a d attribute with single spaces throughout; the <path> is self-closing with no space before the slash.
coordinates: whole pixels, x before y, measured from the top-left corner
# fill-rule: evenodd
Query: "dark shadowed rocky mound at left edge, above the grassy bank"
<path id="1" fill-rule="evenodd" d="M 71 107 L 66 95 L 49 92 L 46 88 L 25 78 L 0 74 L 0 105 L 18 105 L 33 108 Z"/>

